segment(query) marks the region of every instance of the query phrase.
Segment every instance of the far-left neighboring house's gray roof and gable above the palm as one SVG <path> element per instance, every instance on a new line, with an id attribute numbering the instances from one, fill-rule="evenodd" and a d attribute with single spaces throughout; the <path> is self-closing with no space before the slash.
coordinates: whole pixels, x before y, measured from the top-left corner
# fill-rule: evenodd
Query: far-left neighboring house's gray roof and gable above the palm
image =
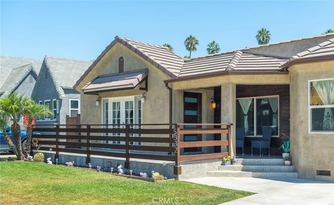
<path id="1" fill-rule="evenodd" d="M 0 56 L 0 97 L 16 91 L 31 96 L 42 61 Z"/>

